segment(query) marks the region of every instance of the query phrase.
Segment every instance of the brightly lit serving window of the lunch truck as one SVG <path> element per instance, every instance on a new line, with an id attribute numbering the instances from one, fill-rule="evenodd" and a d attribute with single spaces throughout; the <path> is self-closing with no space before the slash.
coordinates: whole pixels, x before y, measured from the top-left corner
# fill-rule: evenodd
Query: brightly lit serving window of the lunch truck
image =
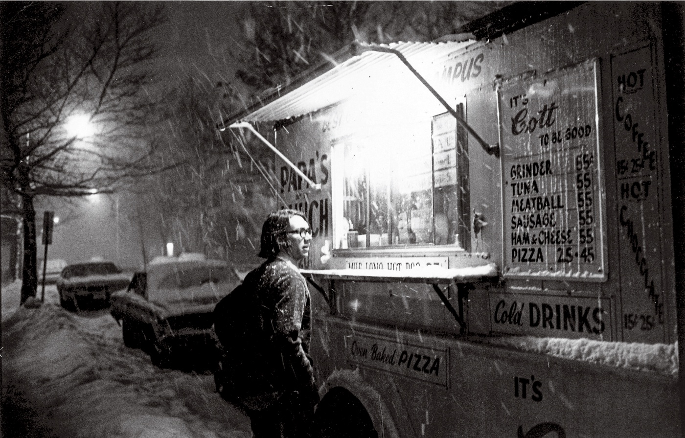
<path id="1" fill-rule="evenodd" d="M 343 161 L 338 249 L 466 246 L 466 135 L 451 114 L 393 123 L 335 147 Z"/>

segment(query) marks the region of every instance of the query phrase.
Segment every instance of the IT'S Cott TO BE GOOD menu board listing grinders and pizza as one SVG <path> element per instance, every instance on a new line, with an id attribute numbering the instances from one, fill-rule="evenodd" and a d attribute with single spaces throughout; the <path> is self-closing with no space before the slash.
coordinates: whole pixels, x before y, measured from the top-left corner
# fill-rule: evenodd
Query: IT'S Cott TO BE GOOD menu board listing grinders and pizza
<path id="1" fill-rule="evenodd" d="M 517 77 L 497 93 L 503 273 L 606 280 L 596 62 Z"/>

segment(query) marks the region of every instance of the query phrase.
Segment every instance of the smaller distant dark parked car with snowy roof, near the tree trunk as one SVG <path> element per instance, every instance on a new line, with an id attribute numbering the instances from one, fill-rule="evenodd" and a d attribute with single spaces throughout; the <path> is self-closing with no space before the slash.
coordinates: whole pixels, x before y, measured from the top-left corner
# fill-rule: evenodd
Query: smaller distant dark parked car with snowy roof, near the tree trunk
<path id="1" fill-rule="evenodd" d="M 131 274 L 123 273 L 112 262 L 97 261 L 75 263 L 62 269 L 57 280 L 60 306 L 78 309 L 79 300 L 105 300 L 116 291 L 126 289 L 131 282 Z"/>

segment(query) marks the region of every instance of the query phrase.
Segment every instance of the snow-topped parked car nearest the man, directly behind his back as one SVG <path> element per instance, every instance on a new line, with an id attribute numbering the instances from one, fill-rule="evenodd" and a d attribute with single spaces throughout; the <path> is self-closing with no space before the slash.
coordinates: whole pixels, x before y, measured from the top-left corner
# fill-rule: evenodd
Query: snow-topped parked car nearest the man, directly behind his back
<path id="1" fill-rule="evenodd" d="M 214 350 L 212 311 L 239 283 L 221 260 L 160 258 L 134 273 L 126 291 L 112 295 L 110 313 L 121 321 L 124 345 L 168 367 L 177 352 Z"/>

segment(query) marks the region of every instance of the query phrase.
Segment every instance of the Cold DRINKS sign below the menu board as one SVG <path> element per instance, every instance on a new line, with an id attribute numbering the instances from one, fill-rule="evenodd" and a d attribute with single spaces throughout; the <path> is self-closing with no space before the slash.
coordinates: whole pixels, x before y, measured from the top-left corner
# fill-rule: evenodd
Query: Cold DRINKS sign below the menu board
<path id="1" fill-rule="evenodd" d="M 528 293 L 490 294 L 493 331 L 543 337 L 588 338 L 611 341 L 610 300 Z"/>

